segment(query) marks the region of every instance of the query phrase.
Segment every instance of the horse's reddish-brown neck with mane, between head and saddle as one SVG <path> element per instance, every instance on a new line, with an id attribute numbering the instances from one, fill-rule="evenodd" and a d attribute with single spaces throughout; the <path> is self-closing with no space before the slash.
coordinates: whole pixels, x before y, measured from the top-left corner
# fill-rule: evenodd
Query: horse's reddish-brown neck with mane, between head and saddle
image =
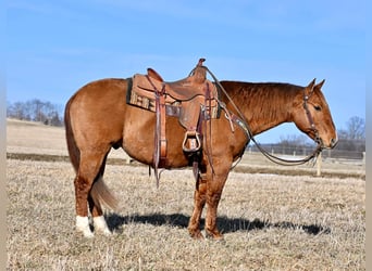
<path id="1" fill-rule="evenodd" d="M 253 134 L 293 121 L 298 87 L 286 83 L 244 83 L 234 102 L 243 112 Z"/>

